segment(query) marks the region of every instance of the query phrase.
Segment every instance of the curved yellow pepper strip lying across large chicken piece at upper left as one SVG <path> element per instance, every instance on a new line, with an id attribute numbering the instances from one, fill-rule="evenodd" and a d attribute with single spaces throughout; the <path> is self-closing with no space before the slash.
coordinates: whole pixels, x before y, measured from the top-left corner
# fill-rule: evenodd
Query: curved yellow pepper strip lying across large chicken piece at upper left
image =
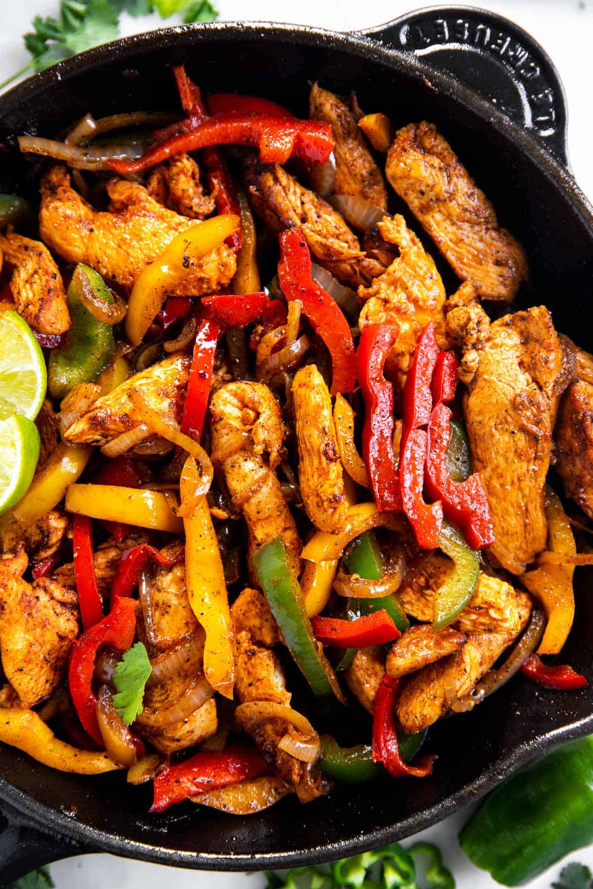
<path id="1" fill-rule="evenodd" d="M 180 232 L 134 281 L 125 316 L 125 332 L 134 346 L 140 346 L 148 327 L 161 310 L 168 292 L 183 280 L 188 261 L 212 253 L 235 231 L 240 220 L 234 213 L 212 216 Z"/>

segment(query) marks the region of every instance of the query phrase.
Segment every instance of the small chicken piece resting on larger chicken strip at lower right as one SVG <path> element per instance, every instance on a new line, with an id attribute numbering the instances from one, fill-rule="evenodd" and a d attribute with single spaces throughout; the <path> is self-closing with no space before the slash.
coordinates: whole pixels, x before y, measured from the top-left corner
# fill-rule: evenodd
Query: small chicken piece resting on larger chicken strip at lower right
<path id="1" fill-rule="evenodd" d="M 410 627 L 391 646 L 385 667 L 389 676 L 397 679 L 453 654 L 467 641 L 468 637 L 453 627 L 437 630 L 429 624 Z"/>

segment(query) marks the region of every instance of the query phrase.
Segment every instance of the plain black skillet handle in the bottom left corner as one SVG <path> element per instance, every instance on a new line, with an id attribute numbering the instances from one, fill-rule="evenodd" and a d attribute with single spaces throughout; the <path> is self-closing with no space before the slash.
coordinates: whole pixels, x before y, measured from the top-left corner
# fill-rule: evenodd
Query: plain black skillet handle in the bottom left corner
<path id="1" fill-rule="evenodd" d="M 0 804 L 0 889 L 52 861 L 98 851 L 59 833 L 45 833 L 12 805 Z"/>

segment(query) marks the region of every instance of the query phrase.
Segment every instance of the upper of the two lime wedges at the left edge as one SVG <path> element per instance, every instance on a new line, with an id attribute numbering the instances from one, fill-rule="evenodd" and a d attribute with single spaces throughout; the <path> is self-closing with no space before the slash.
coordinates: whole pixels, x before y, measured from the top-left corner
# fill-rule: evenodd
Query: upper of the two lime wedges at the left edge
<path id="1" fill-rule="evenodd" d="M 33 331 L 12 308 L 0 312 L 0 420 L 12 413 L 35 420 L 46 387 L 44 353 Z"/>

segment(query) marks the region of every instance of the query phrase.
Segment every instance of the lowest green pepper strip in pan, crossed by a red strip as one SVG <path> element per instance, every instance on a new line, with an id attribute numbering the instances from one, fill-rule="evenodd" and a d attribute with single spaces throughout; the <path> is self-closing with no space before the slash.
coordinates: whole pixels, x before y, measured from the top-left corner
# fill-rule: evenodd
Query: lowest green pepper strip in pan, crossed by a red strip
<path id="1" fill-rule="evenodd" d="M 398 733 L 399 752 L 407 762 L 421 748 L 427 732 L 417 734 Z M 326 778 L 340 781 L 341 784 L 361 784 L 374 781 L 385 774 L 381 763 L 373 763 L 373 748 L 370 744 L 357 744 L 356 747 L 340 747 L 331 735 L 321 737 L 321 757 L 317 765 Z"/>

